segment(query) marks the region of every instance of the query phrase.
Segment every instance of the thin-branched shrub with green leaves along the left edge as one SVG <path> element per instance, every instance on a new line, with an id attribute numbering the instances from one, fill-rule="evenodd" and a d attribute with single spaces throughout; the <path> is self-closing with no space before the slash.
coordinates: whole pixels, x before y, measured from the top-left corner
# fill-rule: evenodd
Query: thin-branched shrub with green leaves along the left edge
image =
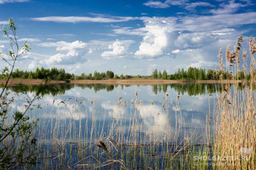
<path id="1" fill-rule="evenodd" d="M 11 68 L 4 68 L 2 70 L 1 78 L 6 79 L 5 85 L 1 88 L 0 94 L 0 169 L 29 169 L 29 166 L 37 163 L 36 158 L 36 139 L 33 136 L 37 120 L 30 120 L 26 116 L 26 112 L 32 110 L 30 106 L 35 99 L 38 99 L 38 94 L 30 99 L 27 96 L 27 104 L 25 111 L 14 111 L 10 109 L 14 100 L 19 96 L 10 96 L 7 91 L 7 84 L 12 77 L 28 78 L 29 73 L 24 72 L 21 74 L 19 70 L 14 71 L 15 62 L 21 54 L 29 51 L 29 46 L 25 43 L 22 48 L 19 48 L 16 36 L 16 26 L 12 19 L 9 19 L 9 27 L 2 28 L 5 37 L 9 38 L 11 51 L 9 51 L 8 58 L 1 56 Z M 9 34 L 9 31 L 12 34 Z M 30 77 L 32 77 L 30 75 Z M 17 97 L 17 98 L 16 98 Z"/>

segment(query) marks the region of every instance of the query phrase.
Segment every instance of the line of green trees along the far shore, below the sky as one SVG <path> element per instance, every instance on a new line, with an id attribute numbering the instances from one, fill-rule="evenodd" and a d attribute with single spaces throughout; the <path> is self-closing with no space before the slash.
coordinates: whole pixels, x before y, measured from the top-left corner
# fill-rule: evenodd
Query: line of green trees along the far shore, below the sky
<path id="1" fill-rule="evenodd" d="M 189 67 L 187 70 L 180 68 L 173 74 L 167 74 L 167 71 L 164 70 L 163 73 L 161 71 L 157 71 L 155 68 L 151 75 L 143 76 L 143 75 L 117 75 L 114 74 L 113 71 L 106 72 L 98 72 L 94 71 L 93 74 L 85 74 L 75 75 L 65 72 L 64 68 L 36 68 L 35 71 L 23 71 L 16 69 L 12 73 L 12 78 L 14 79 L 52 79 L 52 80 L 81 80 L 81 79 L 91 79 L 91 80 L 104 80 L 104 79 L 131 79 L 131 78 L 143 78 L 143 79 L 169 79 L 169 80 L 218 80 L 220 75 L 222 74 L 223 79 L 227 79 L 228 77 L 232 78 L 232 73 L 228 73 L 227 71 L 218 71 L 205 68 L 192 68 Z M 0 79 L 5 79 L 8 76 L 6 74 L 0 74 Z M 244 72 L 239 72 L 236 75 L 236 79 L 250 79 L 250 73 L 244 74 Z"/>

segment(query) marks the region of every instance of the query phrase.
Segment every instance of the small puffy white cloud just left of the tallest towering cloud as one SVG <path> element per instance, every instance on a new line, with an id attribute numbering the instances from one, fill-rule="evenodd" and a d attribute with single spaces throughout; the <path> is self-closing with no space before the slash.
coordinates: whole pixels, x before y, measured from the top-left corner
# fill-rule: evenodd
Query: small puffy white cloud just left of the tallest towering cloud
<path id="1" fill-rule="evenodd" d="M 110 57 L 122 57 L 123 55 L 127 54 L 127 50 L 123 45 L 123 42 L 116 40 L 113 44 L 108 46 L 108 49 L 112 49 L 112 51 L 104 51 L 101 56 L 105 58 Z"/>

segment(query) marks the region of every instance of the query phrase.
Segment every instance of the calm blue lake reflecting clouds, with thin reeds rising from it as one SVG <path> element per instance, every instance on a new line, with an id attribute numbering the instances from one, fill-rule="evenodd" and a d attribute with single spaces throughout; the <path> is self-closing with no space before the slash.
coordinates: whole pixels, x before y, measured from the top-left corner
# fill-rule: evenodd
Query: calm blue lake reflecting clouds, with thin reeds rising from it
<path id="1" fill-rule="evenodd" d="M 41 95 L 27 113 L 40 118 L 35 130 L 41 151 L 38 167 L 93 169 L 106 164 L 102 169 L 161 169 L 166 167 L 166 154 L 186 140 L 198 146 L 204 143 L 221 85 L 64 83 L 17 85 L 8 90 L 15 98 L 12 111 L 25 111 L 28 96 L 38 91 Z M 109 157 L 116 161 L 108 164 Z"/>

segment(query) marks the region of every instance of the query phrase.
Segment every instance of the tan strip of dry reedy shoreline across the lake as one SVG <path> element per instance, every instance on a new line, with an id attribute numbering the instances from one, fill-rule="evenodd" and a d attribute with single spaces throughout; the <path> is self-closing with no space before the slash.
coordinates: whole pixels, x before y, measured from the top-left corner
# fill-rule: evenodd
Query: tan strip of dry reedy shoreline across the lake
<path id="1" fill-rule="evenodd" d="M 6 82 L 5 79 L 0 79 L 0 85 L 4 85 Z M 223 80 L 223 83 L 226 83 L 227 80 Z M 230 80 L 230 83 L 236 83 L 236 80 Z M 239 80 L 239 82 L 244 82 Z M 45 84 L 44 79 L 11 79 L 9 84 L 14 85 L 22 83 L 25 85 L 40 85 Z M 168 79 L 106 79 L 106 80 L 70 80 L 66 81 L 55 81 L 51 80 L 49 84 L 57 83 L 70 83 L 70 84 L 108 84 L 108 85 L 163 85 L 163 84 L 175 84 L 175 83 L 221 83 L 220 80 L 168 80 Z"/>

